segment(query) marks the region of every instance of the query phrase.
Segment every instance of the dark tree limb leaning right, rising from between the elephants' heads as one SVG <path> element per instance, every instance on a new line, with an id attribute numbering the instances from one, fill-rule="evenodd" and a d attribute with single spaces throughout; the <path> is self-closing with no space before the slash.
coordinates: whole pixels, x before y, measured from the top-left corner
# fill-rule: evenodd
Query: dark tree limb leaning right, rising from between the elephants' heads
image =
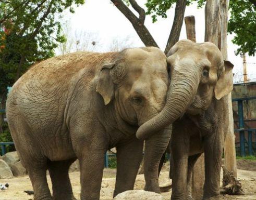
<path id="1" fill-rule="evenodd" d="M 165 55 L 167 55 L 170 48 L 172 48 L 173 45 L 179 41 L 179 35 L 185 15 L 186 2 L 186 0 L 178 0 L 176 3 L 172 30 L 170 31 L 170 35 L 164 50 Z"/>

